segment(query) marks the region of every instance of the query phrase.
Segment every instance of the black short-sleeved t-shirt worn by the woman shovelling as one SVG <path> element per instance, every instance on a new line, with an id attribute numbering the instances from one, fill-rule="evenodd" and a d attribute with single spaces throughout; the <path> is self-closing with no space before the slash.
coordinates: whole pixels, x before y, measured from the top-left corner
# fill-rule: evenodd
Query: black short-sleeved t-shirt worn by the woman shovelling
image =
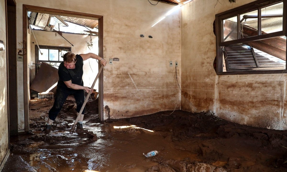
<path id="1" fill-rule="evenodd" d="M 74 89 L 68 88 L 64 81 L 70 81 L 72 80 L 73 84 L 81 85 L 83 86 L 83 65 L 84 61 L 83 58 L 80 55 L 76 55 L 76 63 L 75 63 L 75 69 L 67 69 L 64 66 L 64 62 L 61 62 L 58 69 L 58 75 L 59 75 L 59 81 L 57 87 L 66 90 L 66 91 L 75 91 Z"/>

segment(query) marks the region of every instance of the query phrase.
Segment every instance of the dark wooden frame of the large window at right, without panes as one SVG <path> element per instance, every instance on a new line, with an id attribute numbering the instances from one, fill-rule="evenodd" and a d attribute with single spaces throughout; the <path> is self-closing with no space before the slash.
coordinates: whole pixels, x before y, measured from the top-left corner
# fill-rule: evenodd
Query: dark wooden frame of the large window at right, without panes
<path id="1" fill-rule="evenodd" d="M 268 34 L 261 34 L 261 8 L 269 5 L 273 5 L 276 3 L 283 2 L 283 26 L 282 31 L 273 32 Z M 228 19 L 233 16 L 237 16 L 237 20 L 240 18 L 240 14 L 247 13 L 249 11 L 258 10 L 258 35 L 241 38 L 237 40 L 223 41 L 223 25 L 222 22 L 224 19 Z M 287 73 L 286 69 L 279 70 L 256 70 L 256 71 L 226 71 L 223 72 L 223 60 L 222 60 L 222 49 L 220 47 L 238 43 L 245 43 L 250 41 L 264 40 L 268 38 L 275 38 L 279 36 L 286 36 L 287 33 L 287 0 L 257 0 L 246 5 L 242 5 L 228 11 L 224 11 L 222 13 L 218 13 L 215 15 L 215 27 L 216 27 L 216 74 L 217 75 L 238 75 L 238 74 L 266 74 L 266 73 Z M 240 22 L 237 21 L 237 29 L 240 28 Z M 238 38 L 240 36 L 240 31 L 238 33 Z M 286 41 L 287 45 L 287 41 Z M 287 47 L 287 46 L 286 46 Z M 286 51 L 287 57 L 287 51 Z M 286 62 L 287 65 L 287 62 Z"/>

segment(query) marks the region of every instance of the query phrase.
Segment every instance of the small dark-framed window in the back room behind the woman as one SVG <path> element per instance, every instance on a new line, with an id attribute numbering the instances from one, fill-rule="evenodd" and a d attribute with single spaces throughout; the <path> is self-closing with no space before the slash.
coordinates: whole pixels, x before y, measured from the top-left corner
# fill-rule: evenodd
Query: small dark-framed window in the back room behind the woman
<path id="1" fill-rule="evenodd" d="M 39 50 L 40 48 L 40 50 Z M 57 46 L 35 46 L 36 63 L 46 62 L 56 68 L 63 61 L 63 55 L 71 51 L 70 47 L 57 47 Z M 40 53 L 42 52 L 42 54 Z M 36 71 L 37 72 L 37 71 Z"/>

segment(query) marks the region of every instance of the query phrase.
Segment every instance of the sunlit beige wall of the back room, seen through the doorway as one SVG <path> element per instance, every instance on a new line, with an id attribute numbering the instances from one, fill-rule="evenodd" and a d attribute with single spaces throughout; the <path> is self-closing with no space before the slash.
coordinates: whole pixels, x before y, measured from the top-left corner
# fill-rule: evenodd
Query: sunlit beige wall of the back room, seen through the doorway
<path id="1" fill-rule="evenodd" d="M 71 51 L 75 54 L 86 54 L 89 52 L 98 54 L 98 36 L 92 36 L 93 47 L 89 49 L 87 46 L 87 42 L 90 40 L 89 35 L 63 33 L 63 36 L 74 45 L 72 46 L 63 37 L 61 37 L 59 34 L 56 34 L 55 32 L 47 32 L 42 30 L 33 30 L 33 32 L 39 45 L 71 47 Z M 31 44 L 30 48 L 31 60 L 28 61 L 28 64 L 31 64 L 31 62 L 32 63 L 36 62 L 35 45 L 37 44 L 34 39 L 34 36 L 31 37 L 30 44 Z M 36 67 L 35 64 L 33 64 L 33 66 L 30 66 L 31 82 L 35 78 L 35 67 Z M 83 75 L 84 85 L 87 87 L 91 87 L 98 73 L 98 63 L 96 59 L 85 60 L 83 69 L 84 69 L 84 75 Z M 98 81 L 96 82 L 94 89 L 98 90 Z"/>

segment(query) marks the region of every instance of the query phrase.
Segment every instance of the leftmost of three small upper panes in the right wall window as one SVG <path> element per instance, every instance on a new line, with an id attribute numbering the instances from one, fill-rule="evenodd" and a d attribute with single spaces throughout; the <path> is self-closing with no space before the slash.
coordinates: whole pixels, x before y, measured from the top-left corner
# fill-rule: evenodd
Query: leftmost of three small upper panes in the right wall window
<path id="1" fill-rule="evenodd" d="M 223 20 L 223 41 L 237 39 L 237 17 L 230 17 Z"/>

